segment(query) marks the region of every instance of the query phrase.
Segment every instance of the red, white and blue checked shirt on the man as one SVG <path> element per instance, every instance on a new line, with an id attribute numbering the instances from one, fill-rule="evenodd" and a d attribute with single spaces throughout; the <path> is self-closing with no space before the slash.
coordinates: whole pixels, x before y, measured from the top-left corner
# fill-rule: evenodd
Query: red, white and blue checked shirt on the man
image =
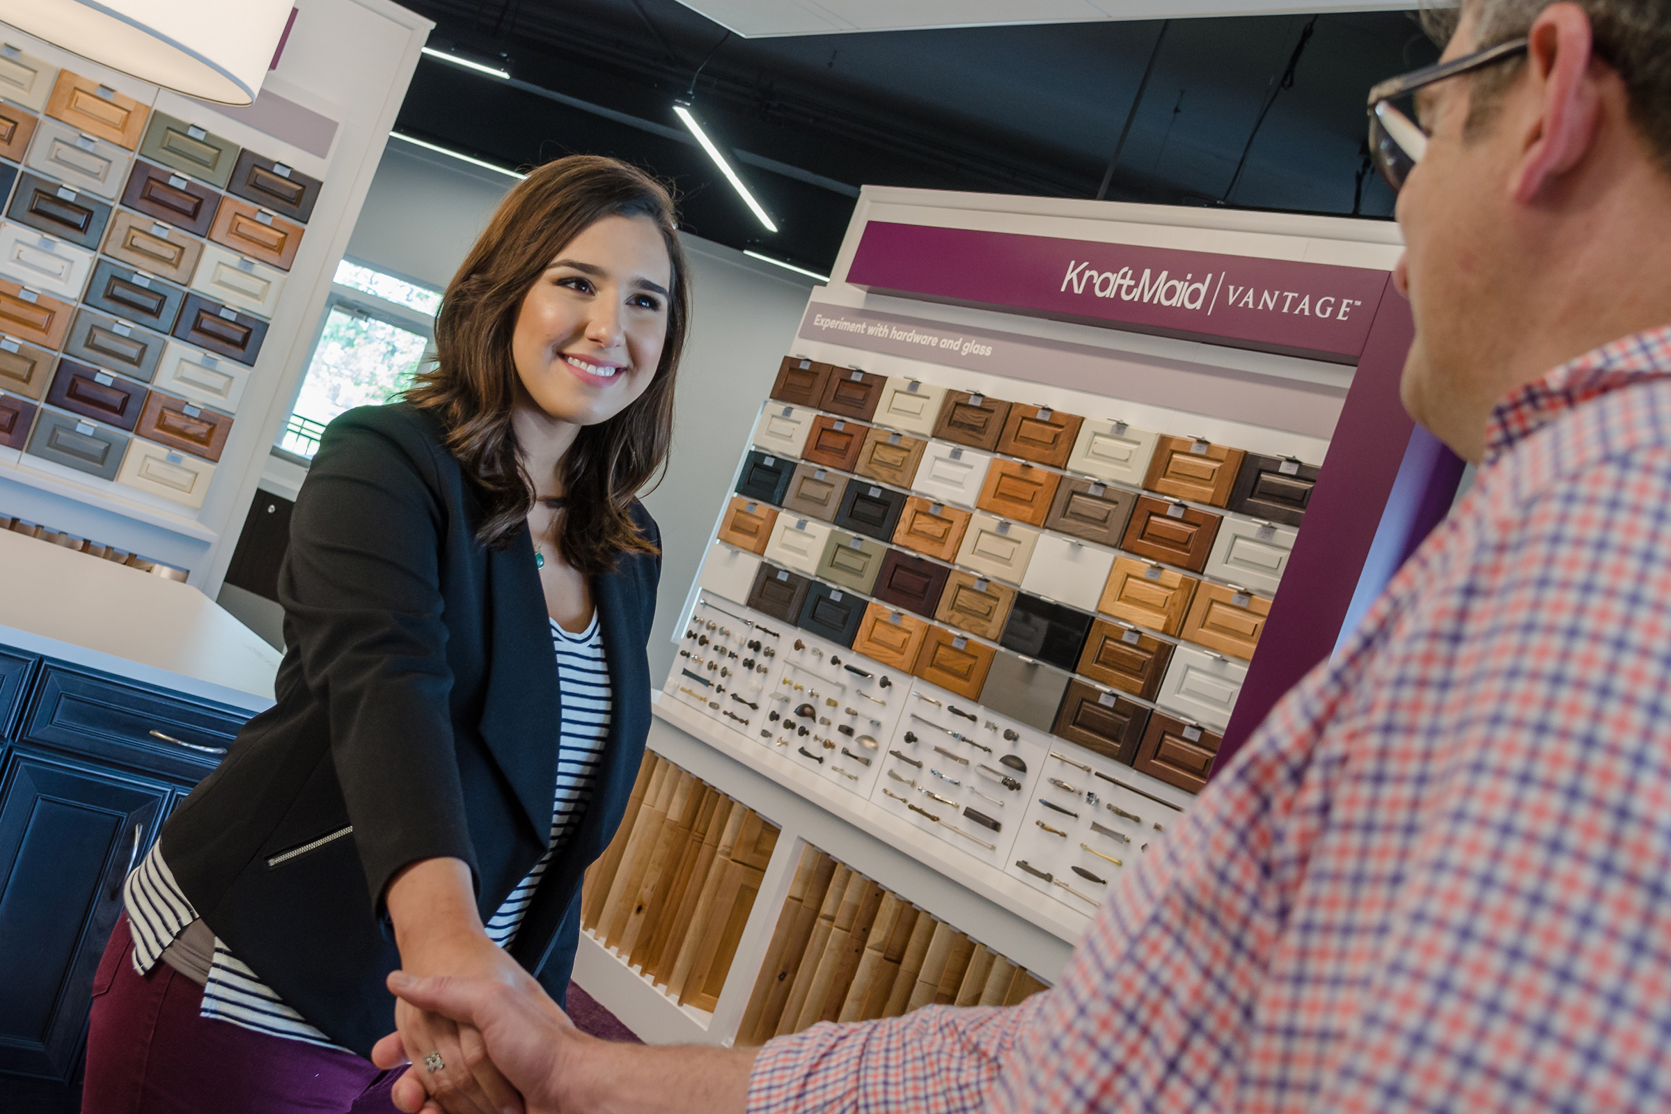
<path id="1" fill-rule="evenodd" d="M 749 1109 L 1671 1111 L 1671 326 L 1487 444 L 1053 990 L 772 1041 Z"/>

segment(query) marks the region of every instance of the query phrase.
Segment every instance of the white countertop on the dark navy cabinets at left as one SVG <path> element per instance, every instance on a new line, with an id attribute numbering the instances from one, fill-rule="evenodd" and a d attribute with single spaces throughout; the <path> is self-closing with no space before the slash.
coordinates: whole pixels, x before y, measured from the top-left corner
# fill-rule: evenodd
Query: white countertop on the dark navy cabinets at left
<path id="1" fill-rule="evenodd" d="M 262 711 L 282 655 L 179 581 L 0 531 L 0 645 Z"/>

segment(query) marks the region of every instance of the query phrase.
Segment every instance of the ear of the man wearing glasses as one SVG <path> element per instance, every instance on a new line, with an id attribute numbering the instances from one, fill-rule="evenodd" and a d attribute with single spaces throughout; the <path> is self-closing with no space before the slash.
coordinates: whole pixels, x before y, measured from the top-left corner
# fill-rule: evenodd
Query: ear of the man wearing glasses
<path id="1" fill-rule="evenodd" d="M 1591 73 L 1589 15 L 1576 3 L 1552 3 L 1532 23 L 1527 75 L 1539 94 L 1511 192 L 1519 204 L 1577 165 L 1596 137 L 1601 95 Z"/>

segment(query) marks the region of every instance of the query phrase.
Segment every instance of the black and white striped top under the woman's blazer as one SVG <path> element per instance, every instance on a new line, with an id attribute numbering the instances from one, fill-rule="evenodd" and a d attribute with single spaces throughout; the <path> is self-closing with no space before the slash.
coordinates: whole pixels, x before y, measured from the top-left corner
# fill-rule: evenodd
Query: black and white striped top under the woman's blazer
<path id="1" fill-rule="evenodd" d="M 488 937 L 500 947 L 510 947 L 521 927 L 523 915 L 533 900 L 535 889 L 545 870 L 587 813 L 598 762 L 610 730 L 610 675 L 603 656 L 603 636 L 598 618 L 578 635 L 570 635 L 551 620 L 551 646 L 556 653 L 556 678 L 563 695 L 563 718 L 558 735 L 556 790 L 551 803 L 551 833 L 546 852 L 528 877 L 511 890 L 498 912 L 488 919 Z M 354 828 L 331 832 L 319 843 L 349 835 Z M 317 847 L 314 843 L 312 847 Z M 157 965 L 162 952 L 197 920 L 197 910 L 174 880 L 162 860 L 162 842 L 127 877 L 124 905 L 134 932 L 134 969 L 140 975 Z M 274 1037 L 306 1041 L 326 1047 L 331 1044 L 319 1029 L 307 1024 L 301 1014 L 286 1005 L 261 977 L 241 962 L 217 937 L 209 982 L 204 985 L 202 1017 L 226 1020 L 244 1029 Z"/>

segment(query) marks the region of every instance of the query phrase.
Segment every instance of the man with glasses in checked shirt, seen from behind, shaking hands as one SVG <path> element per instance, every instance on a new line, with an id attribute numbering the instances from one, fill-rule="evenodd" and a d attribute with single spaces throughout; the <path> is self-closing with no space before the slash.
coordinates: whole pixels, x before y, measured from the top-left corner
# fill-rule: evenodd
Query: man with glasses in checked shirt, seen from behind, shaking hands
<path id="1" fill-rule="evenodd" d="M 1475 486 L 1054 989 L 759 1051 L 391 989 L 536 1111 L 1671 1111 L 1671 0 L 1465 0 L 1370 134 Z"/>

